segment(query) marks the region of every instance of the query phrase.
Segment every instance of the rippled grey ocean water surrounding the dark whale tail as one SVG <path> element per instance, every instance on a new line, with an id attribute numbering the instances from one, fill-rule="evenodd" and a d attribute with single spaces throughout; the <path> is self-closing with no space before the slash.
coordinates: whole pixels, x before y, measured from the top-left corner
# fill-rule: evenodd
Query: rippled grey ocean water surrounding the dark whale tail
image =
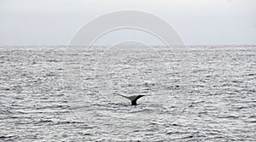
<path id="1" fill-rule="evenodd" d="M 256 46 L 188 48 L 1 47 L 0 141 L 256 141 Z"/>

